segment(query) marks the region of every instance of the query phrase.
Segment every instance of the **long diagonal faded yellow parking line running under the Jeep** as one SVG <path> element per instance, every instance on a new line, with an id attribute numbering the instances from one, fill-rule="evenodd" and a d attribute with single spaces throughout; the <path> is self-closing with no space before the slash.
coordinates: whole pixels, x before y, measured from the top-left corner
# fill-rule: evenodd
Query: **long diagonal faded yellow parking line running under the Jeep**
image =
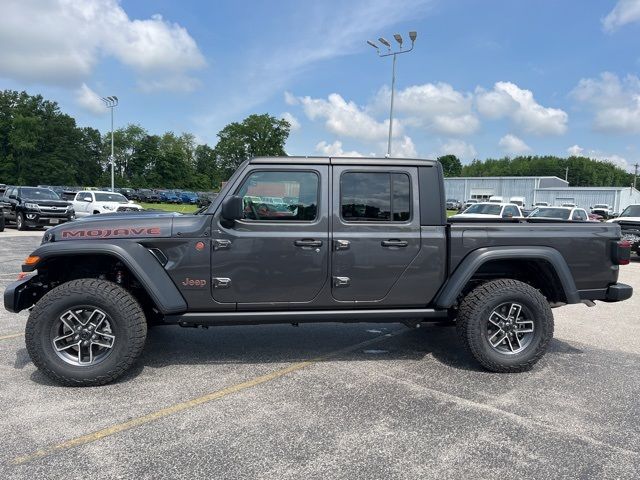
<path id="1" fill-rule="evenodd" d="M 236 385 L 232 385 L 227 388 L 223 388 L 222 390 L 217 390 L 215 392 L 208 393 L 201 397 L 196 397 L 191 400 L 187 400 L 186 402 L 176 403 L 174 405 L 170 405 L 168 407 L 162 408 L 160 410 L 156 410 L 155 412 L 148 413 L 147 415 L 142 415 L 140 417 L 132 418 L 131 420 L 127 420 L 126 422 L 117 423 L 107 428 L 103 428 L 102 430 L 98 430 L 93 433 L 89 433 L 87 435 L 82 435 L 80 437 L 72 438 L 71 440 L 67 440 L 65 442 L 59 443 L 57 445 L 52 445 L 50 447 L 45 447 L 40 450 L 37 450 L 28 455 L 24 455 L 21 457 L 16 457 L 12 460 L 11 463 L 14 465 L 22 465 L 24 463 L 31 462 L 33 460 L 37 460 L 42 457 L 46 457 L 53 453 L 61 452 L 64 450 L 68 450 L 70 448 L 78 447 L 81 445 L 86 445 L 88 443 L 96 442 L 105 437 L 109 437 L 111 435 L 115 435 L 120 432 L 124 432 L 126 430 L 131 430 L 132 428 L 139 427 L 141 425 L 145 425 L 147 423 L 153 422 L 155 420 L 159 420 L 161 418 L 168 417 L 170 415 L 175 415 L 176 413 L 183 412 L 184 410 L 188 410 L 198 405 L 202 405 L 204 403 L 212 402 L 215 400 L 219 400 L 223 397 L 231 395 L 233 393 L 240 392 L 242 390 L 246 390 L 248 388 L 252 388 L 258 386 L 260 384 L 269 382 L 271 380 L 275 380 L 277 378 L 283 377 L 289 373 L 295 372 L 297 370 L 301 370 L 315 363 L 321 362 L 323 360 L 328 360 L 332 357 L 340 355 L 342 353 L 352 352 L 359 348 L 378 343 L 387 338 L 398 335 L 400 332 L 404 331 L 404 329 L 396 330 L 391 334 L 381 335 L 370 340 L 366 340 L 364 342 L 360 342 L 356 345 L 351 345 L 349 347 L 343 348 L 341 350 L 337 350 L 326 355 L 322 355 L 317 358 L 313 358 L 310 360 L 305 360 L 303 362 L 294 363 L 288 367 L 282 368 L 280 370 L 276 370 L 271 373 L 267 373 L 265 375 L 261 375 L 259 377 L 255 377 L 251 380 L 247 380 L 246 382 L 238 383 Z"/>

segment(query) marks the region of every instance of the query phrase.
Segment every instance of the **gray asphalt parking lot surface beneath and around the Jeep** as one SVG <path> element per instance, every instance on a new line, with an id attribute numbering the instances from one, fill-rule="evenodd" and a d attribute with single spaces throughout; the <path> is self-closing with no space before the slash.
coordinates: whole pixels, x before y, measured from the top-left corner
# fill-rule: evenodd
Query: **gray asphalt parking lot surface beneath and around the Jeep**
<path id="1" fill-rule="evenodd" d="M 0 233 L 0 286 L 39 243 Z M 620 281 L 640 289 L 640 260 Z M 30 362 L 0 313 L 0 478 L 640 478 L 640 295 L 554 310 L 532 371 L 425 324 L 159 327 L 97 388 Z"/>

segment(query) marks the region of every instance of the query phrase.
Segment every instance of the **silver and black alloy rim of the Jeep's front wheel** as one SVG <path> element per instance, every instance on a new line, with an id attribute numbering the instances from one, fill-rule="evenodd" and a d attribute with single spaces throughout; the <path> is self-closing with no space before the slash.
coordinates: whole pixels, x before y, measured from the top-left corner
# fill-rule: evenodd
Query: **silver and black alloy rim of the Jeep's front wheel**
<path id="1" fill-rule="evenodd" d="M 67 310 L 51 327 L 53 350 L 71 365 L 88 367 L 102 362 L 115 341 L 109 316 L 95 307 Z"/>

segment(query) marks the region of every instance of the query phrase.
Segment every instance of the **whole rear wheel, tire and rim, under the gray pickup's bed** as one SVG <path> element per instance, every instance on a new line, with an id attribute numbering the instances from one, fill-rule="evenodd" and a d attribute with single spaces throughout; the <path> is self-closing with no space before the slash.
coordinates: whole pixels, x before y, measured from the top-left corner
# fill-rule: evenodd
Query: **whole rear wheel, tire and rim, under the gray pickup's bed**
<path id="1" fill-rule="evenodd" d="M 456 327 L 487 370 L 523 372 L 545 354 L 553 338 L 553 314 L 546 298 L 532 286 L 493 280 L 464 298 Z"/>

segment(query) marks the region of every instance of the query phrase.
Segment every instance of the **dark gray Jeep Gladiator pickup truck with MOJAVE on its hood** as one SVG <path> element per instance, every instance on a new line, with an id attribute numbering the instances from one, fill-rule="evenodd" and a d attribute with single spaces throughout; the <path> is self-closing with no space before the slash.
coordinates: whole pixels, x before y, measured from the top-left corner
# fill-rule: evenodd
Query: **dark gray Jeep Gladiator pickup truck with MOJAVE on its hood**
<path id="1" fill-rule="evenodd" d="M 485 368 L 519 372 L 544 355 L 551 308 L 631 296 L 620 237 L 613 223 L 448 222 L 436 161 L 255 158 L 197 215 L 47 230 L 4 302 L 30 309 L 29 355 L 64 385 L 119 377 L 157 324 L 455 321 Z"/>

